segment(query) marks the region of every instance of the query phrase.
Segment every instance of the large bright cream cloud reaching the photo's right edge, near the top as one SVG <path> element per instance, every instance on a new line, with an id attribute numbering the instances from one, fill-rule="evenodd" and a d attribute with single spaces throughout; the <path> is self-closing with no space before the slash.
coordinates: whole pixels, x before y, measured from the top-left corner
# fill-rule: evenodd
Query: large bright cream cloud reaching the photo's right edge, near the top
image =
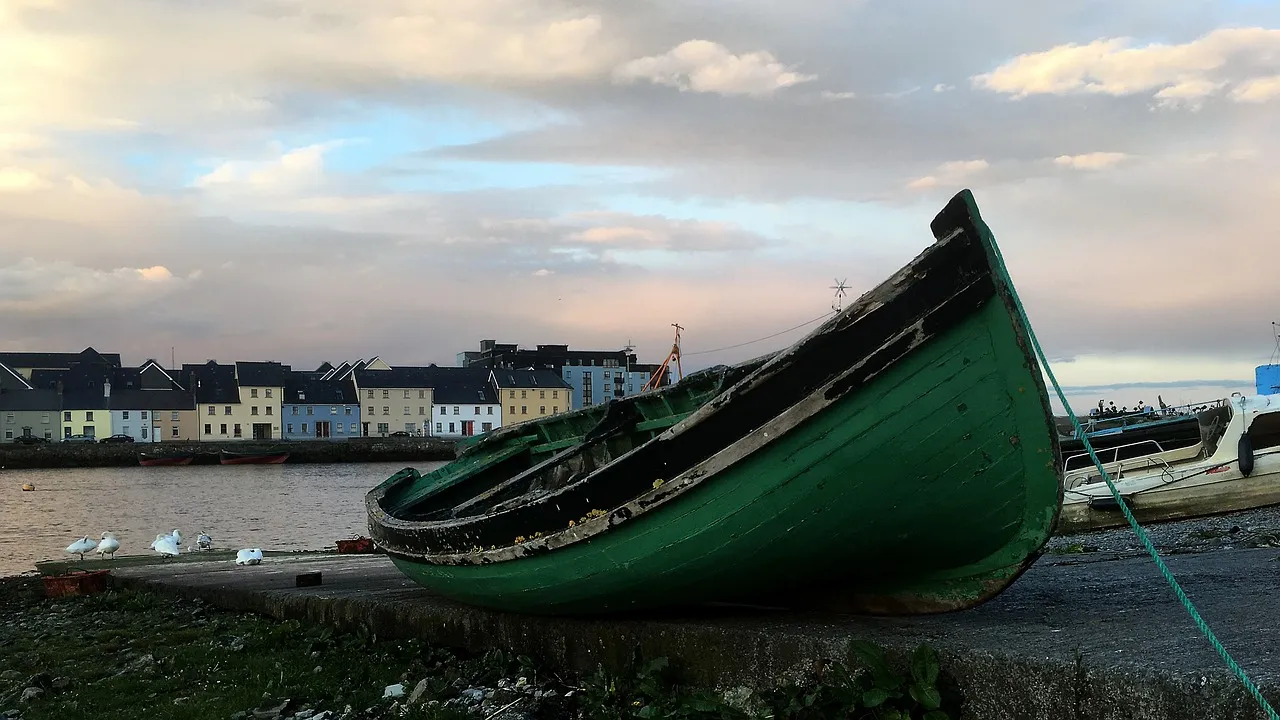
<path id="1" fill-rule="evenodd" d="M 1226 86 L 1235 86 L 1235 100 L 1271 97 L 1277 69 L 1280 29 L 1219 28 L 1178 45 L 1135 46 L 1130 37 L 1069 42 L 1018 55 L 972 82 L 1014 97 L 1149 92 L 1160 104 L 1198 106 Z"/>

